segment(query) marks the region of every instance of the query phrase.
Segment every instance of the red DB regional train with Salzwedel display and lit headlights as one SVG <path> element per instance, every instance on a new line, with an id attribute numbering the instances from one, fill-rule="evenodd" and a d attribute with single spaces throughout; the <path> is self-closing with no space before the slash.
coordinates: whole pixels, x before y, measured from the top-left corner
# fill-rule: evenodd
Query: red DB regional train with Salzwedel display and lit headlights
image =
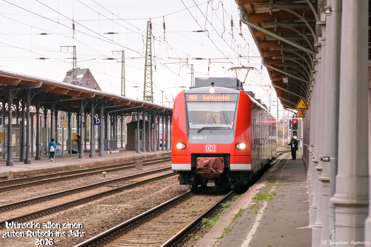
<path id="1" fill-rule="evenodd" d="M 172 170 L 180 184 L 236 188 L 275 157 L 276 119 L 252 95 L 237 78 L 220 77 L 196 78 L 175 97 Z"/>

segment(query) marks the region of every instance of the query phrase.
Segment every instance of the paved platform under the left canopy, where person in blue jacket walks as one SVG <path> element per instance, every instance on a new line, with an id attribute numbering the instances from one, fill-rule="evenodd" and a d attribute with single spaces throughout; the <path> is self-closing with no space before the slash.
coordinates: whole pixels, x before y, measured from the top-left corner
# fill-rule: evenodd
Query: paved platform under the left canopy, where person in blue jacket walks
<path id="1" fill-rule="evenodd" d="M 85 151 L 85 158 L 79 158 L 79 154 L 72 154 L 72 156 L 65 154 L 65 157 L 62 157 L 62 154 L 56 154 L 54 162 L 51 162 L 48 157 L 41 157 L 41 160 L 31 157 L 31 164 L 24 164 L 19 159 L 13 159 L 14 166 L 6 166 L 6 159 L 0 159 L 0 181 L 171 156 L 171 150 L 147 151 L 139 154 L 125 149 L 118 149 L 118 151 L 117 153 L 105 153 L 104 157 L 96 153 L 94 158 L 90 158 L 89 153 Z"/>

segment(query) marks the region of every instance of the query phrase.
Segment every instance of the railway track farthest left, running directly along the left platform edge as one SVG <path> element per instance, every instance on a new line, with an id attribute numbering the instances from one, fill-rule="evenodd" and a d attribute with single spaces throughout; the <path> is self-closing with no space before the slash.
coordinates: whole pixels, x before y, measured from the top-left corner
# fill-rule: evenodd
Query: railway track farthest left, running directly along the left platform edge
<path id="1" fill-rule="evenodd" d="M 155 158 L 151 160 L 145 160 L 143 161 L 142 165 L 148 166 L 148 165 L 163 163 L 167 161 L 171 161 L 171 156 Z M 130 169 L 134 167 L 135 167 L 135 162 L 129 162 L 129 163 L 116 164 L 116 165 L 111 165 L 111 166 L 89 168 L 85 170 L 65 171 L 62 173 L 53 173 L 53 174 L 46 174 L 46 175 L 40 175 L 40 176 L 34 176 L 34 177 L 5 180 L 5 181 L 0 181 L 0 192 L 39 185 L 39 184 L 50 183 L 51 181 L 60 181 L 60 180 L 65 180 L 65 179 L 70 179 L 70 178 L 77 178 L 77 177 L 83 177 L 87 175 L 98 174 L 98 173 L 102 173 L 103 171 L 108 173 L 112 171 Z"/>

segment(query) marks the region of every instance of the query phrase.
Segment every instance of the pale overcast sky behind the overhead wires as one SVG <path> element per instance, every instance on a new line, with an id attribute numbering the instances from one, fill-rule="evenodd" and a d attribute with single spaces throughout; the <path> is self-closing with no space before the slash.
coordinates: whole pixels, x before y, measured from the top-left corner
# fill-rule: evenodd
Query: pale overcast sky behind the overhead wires
<path id="1" fill-rule="evenodd" d="M 126 96 L 142 100 L 150 19 L 155 103 L 162 104 L 161 90 L 173 101 L 190 86 L 190 64 L 194 77 L 236 77 L 228 69 L 245 66 L 255 69 L 246 80 L 246 70 L 237 70 L 244 90 L 267 106 L 271 97 L 276 114 L 276 93 L 247 26 L 240 30 L 234 0 L 0 0 L 0 69 L 62 81 L 73 49 L 61 46 L 76 46 L 77 67 L 89 68 L 103 91 L 121 94 L 121 52 L 112 51 L 124 50 Z"/>

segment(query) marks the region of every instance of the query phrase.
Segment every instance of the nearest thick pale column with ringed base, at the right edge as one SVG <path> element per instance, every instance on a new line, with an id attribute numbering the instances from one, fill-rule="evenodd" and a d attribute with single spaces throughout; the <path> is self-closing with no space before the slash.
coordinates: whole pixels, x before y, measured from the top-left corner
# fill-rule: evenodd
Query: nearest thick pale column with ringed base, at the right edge
<path id="1" fill-rule="evenodd" d="M 343 0 L 335 241 L 364 241 L 368 214 L 368 1 Z M 352 245 L 353 246 L 353 245 Z M 354 246 L 363 246 L 354 245 Z"/>

